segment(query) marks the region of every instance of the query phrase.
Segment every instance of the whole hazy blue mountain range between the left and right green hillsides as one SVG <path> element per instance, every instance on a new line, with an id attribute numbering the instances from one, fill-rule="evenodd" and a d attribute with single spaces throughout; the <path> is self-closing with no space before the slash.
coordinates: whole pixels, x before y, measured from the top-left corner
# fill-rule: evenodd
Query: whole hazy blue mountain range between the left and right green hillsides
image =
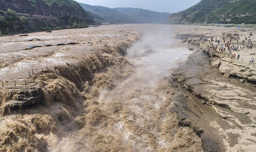
<path id="1" fill-rule="evenodd" d="M 86 11 L 90 11 L 104 18 L 110 23 L 164 23 L 170 13 L 160 13 L 144 9 L 115 8 L 92 6 L 79 3 Z"/>

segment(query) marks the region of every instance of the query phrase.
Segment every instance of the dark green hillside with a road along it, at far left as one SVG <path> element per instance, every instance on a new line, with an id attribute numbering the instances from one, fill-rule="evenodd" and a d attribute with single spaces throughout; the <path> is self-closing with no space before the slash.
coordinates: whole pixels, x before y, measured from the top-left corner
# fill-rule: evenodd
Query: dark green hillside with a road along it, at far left
<path id="1" fill-rule="evenodd" d="M 99 17 L 73 0 L 0 0 L 0 11 L 2 34 L 84 28 Z"/>

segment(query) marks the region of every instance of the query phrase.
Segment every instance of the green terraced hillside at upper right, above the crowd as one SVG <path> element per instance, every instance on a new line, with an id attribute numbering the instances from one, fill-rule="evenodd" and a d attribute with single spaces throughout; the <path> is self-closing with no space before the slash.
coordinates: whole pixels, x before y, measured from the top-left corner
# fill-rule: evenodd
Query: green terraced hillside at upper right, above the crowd
<path id="1" fill-rule="evenodd" d="M 256 24 L 256 0 L 201 0 L 198 4 L 171 14 L 168 23 Z"/>

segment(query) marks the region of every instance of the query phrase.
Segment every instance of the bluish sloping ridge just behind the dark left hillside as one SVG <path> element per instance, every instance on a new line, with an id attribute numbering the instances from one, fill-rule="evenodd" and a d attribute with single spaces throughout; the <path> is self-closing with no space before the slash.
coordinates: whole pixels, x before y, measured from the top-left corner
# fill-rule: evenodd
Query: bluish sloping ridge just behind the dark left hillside
<path id="1" fill-rule="evenodd" d="M 103 6 L 92 6 L 88 4 L 79 3 L 86 11 L 97 14 L 102 20 L 110 23 L 132 23 L 129 16 L 116 11 L 115 9 L 110 9 Z M 100 19 L 100 18 L 97 18 Z"/>

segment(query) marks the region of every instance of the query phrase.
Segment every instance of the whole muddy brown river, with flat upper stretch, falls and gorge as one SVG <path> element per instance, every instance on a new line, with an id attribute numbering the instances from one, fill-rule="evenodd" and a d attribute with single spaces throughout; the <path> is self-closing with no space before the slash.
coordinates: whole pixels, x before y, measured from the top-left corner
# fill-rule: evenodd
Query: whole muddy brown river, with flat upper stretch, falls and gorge
<path id="1" fill-rule="evenodd" d="M 238 148 L 228 132 L 223 145 L 216 121 L 224 119 L 211 105 L 179 85 L 186 72 L 221 77 L 208 56 L 195 54 L 209 29 L 195 29 L 111 25 L 0 37 L 0 152 Z M 186 30 L 197 38 L 181 42 L 186 35 L 177 35 Z M 50 45 L 29 47 L 43 44 Z"/>

